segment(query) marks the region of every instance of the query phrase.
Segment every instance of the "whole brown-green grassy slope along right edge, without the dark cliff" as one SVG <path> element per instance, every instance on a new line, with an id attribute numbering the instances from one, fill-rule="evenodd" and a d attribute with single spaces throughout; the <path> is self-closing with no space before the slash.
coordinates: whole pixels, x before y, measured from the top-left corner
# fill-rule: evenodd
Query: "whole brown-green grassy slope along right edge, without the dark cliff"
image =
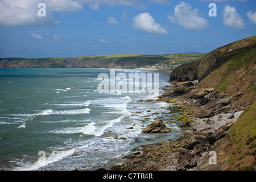
<path id="1" fill-rule="evenodd" d="M 237 42 L 236 44 L 239 44 Z M 230 127 L 218 151 L 220 170 L 256 169 L 256 44 L 247 44 L 218 56 L 226 60 L 205 77 L 197 88 L 215 88 L 217 97 L 233 97 L 232 107 L 246 109 Z M 212 169 L 212 168 L 208 168 Z"/>

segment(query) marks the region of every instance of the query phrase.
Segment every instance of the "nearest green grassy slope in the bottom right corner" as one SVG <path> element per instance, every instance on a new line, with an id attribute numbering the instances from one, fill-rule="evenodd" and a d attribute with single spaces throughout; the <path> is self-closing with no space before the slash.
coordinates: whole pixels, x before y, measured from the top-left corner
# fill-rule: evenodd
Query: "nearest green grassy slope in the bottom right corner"
<path id="1" fill-rule="evenodd" d="M 256 169 L 256 102 L 247 108 L 230 128 L 225 152 L 229 157 L 224 170 Z"/>

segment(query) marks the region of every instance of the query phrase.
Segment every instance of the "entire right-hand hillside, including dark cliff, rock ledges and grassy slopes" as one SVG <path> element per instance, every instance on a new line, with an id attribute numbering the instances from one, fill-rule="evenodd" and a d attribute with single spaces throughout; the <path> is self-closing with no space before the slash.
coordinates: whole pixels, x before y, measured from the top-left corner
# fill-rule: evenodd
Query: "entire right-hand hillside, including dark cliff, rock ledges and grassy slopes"
<path id="1" fill-rule="evenodd" d="M 215 49 L 203 58 L 177 68 L 170 80 L 199 79 L 186 92 L 167 97 L 185 101 L 195 117 L 209 118 L 221 113 L 243 111 L 237 121 L 210 149 L 218 154 L 217 165 L 209 166 L 208 156 L 200 170 L 255 170 L 256 168 L 256 36 Z M 212 90 L 209 93 L 209 90 Z M 191 100 L 192 99 L 192 100 Z M 192 113 L 192 114 L 193 114 Z M 220 119 L 221 121 L 221 119 Z M 225 121 L 225 120 L 224 120 Z M 208 165 L 207 165 L 208 164 Z"/>

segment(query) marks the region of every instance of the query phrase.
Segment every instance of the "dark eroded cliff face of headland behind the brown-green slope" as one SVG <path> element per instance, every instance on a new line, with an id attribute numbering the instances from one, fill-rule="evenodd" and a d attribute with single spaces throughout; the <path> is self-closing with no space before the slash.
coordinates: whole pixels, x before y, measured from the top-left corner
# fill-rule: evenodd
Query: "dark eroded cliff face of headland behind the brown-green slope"
<path id="1" fill-rule="evenodd" d="M 175 69 L 170 75 L 170 81 L 201 81 L 214 71 L 214 69 L 219 68 L 226 61 L 236 56 L 236 50 L 253 44 L 256 44 L 256 36 L 217 48 L 201 59 Z"/>

